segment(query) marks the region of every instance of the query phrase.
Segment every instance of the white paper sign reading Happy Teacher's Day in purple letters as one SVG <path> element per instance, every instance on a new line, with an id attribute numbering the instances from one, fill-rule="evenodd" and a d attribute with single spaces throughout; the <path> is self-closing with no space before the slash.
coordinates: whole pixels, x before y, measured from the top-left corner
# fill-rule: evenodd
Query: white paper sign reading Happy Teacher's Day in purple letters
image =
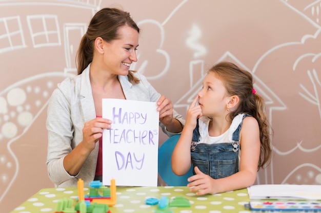
<path id="1" fill-rule="evenodd" d="M 157 186 L 159 112 L 156 102 L 103 99 L 103 184 Z"/>

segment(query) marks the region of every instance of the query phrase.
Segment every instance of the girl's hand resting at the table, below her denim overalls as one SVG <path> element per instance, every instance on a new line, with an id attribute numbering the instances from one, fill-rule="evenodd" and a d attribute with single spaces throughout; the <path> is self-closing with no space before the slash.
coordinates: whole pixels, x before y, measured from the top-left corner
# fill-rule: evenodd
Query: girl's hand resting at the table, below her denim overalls
<path id="1" fill-rule="evenodd" d="M 199 168 L 195 166 L 194 168 L 196 175 L 189 177 L 187 180 L 190 182 L 187 187 L 191 191 L 196 191 L 196 195 L 214 194 L 214 179 L 209 175 L 205 175 L 200 172 Z"/>

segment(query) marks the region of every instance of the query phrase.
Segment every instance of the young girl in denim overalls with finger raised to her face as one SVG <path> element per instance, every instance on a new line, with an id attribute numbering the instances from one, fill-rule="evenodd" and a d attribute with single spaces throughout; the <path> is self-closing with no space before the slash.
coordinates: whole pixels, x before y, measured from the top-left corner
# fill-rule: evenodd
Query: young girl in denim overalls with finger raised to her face
<path id="1" fill-rule="evenodd" d="M 172 154 L 173 172 L 184 175 L 193 165 L 187 186 L 196 195 L 251 186 L 258 169 L 270 162 L 269 132 L 252 75 L 219 62 L 208 71 L 187 112 Z"/>

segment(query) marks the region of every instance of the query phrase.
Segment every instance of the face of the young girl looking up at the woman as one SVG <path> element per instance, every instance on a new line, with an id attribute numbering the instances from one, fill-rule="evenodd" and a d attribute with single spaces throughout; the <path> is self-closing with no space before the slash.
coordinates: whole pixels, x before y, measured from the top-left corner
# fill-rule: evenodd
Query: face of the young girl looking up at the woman
<path id="1" fill-rule="evenodd" d="M 223 81 L 213 72 L 209 72 L 203 80 L 203 89 L 198 92 L 198 103 L 203 116 L 211 117 L 225 115 L 229 96 Z"/>

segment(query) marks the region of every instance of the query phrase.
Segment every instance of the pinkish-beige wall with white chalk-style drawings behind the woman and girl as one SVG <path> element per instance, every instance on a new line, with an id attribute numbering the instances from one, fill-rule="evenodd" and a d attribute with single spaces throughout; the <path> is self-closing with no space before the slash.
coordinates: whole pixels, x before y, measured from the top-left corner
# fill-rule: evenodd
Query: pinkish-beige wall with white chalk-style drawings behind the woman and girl
<path id="1" fill-rule="evenodd" d="M 321 5 L 314 2 L 1 1 L 2 211 L 53 187 L 45 165 L 47 101 L 58 82 L 76 74 L 79 39 L 96 10 L 108 6 L 122 6 L 142 29 L 132 69 L 184 116 L 215 62 L 229 60 L 252 72 L 266 100 L 275 151 L 256 183 L 321 184 Z"/>

